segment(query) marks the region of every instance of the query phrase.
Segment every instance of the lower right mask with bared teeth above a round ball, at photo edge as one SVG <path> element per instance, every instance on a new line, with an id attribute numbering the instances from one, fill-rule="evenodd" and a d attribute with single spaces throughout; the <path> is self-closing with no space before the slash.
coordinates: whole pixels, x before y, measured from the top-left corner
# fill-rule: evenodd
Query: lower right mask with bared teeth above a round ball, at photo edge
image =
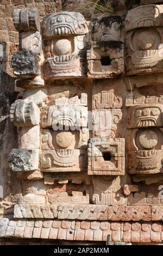
<path id="1" fill-rule="evenodd" d="M 162 173 L 161 88 L 135 89 L 127 95 L 127 155 L 131 174 Z M 130 129 L 130 130 L 129 130 Z"/>

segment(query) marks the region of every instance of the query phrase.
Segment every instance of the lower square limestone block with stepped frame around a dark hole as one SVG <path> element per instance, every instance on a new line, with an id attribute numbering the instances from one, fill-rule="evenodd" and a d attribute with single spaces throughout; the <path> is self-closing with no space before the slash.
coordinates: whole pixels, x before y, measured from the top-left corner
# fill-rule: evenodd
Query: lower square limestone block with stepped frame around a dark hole
<path id="1" fill-rule="evenodd" d="M 90 139 L 89 175 L 124 175 L 124 139 Z"/>

